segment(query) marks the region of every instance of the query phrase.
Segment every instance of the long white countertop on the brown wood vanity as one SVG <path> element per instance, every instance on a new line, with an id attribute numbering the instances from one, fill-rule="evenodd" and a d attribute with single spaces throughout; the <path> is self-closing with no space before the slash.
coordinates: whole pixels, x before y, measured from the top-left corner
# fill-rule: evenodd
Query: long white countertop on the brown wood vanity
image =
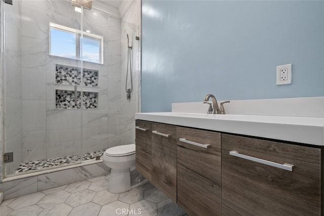
<path id="1" fill-rule="evenodd" d="M 136 113 L 136 119 L 324 146 L 324 118 L 181 112 Z"/>

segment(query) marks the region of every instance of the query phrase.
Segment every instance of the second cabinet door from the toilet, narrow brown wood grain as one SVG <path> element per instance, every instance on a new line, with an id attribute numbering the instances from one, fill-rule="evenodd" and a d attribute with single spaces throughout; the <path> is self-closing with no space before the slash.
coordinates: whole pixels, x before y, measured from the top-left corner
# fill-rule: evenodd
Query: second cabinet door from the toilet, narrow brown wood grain
<path id="1" fill-rule="evenodd" d="M 177 202 L 176 126 L 152 122 L 151 183 Z"/>

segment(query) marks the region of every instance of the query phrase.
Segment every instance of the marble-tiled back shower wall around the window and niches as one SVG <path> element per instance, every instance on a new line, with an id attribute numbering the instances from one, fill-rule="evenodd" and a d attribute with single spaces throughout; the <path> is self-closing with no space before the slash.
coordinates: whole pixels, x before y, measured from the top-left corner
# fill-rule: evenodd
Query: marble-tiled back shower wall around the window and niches
<path id="1" fill-rule="evenodd" d="M 58 110 L 55 89 L 73 90 L 73 86 L 55 83 L 55 64 L 81 65 L 75 60 L 48 55 L 49 22 L 79 29 L 80 13 L 68 1 L 31 0 L 20 4 L 22 145 L 15 152 L 21 152 L 22 161 L 32 161 L 119 145 L 120 19 L 84 10 L 84 29 L 104 37 L 104 64 L 85 62 L 84 68 L 99 71 L 99 88 L 79 88 L 99 92 L 100 109 Z M 7 114 L 6 118 L 10 116 Z"/>

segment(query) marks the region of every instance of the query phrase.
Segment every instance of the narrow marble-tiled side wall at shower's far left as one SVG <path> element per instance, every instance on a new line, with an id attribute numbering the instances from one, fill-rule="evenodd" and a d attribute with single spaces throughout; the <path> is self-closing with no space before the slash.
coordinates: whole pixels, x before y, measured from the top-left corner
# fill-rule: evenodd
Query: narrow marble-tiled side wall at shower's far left
<path id="1" fill-rule="evenodd" d="M 5 38 L 7 41 L 4 59 L 6 60 L 4 77 L 4 91 L 6 95 L 4 112 L 8 118 L 5 121 L 6 152 L 15 152 L 16 160 L 6 164 L 6 172 L 14 172 L 21 163 L 22 155 L 22 103 L 21 103 L 21 28 L 19 16 L 22 10 L 21 2 L 13 6 L 4 4 L 5 14 Z M 1 147 L 1 146 L 0 146 Z"/>

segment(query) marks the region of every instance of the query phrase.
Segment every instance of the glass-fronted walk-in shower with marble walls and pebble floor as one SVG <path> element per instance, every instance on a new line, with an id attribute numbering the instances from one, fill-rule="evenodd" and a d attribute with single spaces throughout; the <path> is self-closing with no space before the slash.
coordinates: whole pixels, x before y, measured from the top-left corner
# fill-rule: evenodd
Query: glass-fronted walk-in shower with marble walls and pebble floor
<path id="1" fill-rule="evenodd" d="M 5 177 L 98 160 L 109 147 L 135 142 L 138 6 L 128 13 L 104 0 L 2 2 L 0 147 L 13 159 L 5 161 Z M 125 31 L 134 35 L 131 100 L 124 95 Z"/>

